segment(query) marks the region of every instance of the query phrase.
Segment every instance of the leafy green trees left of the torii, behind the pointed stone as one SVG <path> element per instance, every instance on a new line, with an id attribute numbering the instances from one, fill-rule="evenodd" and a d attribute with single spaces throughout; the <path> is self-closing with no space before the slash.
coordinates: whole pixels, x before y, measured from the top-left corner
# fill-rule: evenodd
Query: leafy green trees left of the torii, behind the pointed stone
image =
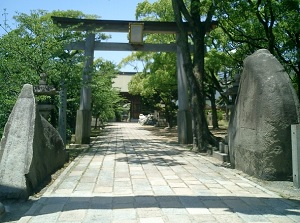
<path id="1" fill-rule="evenodd" d="M 96 18 L 80 11 L 31 11 L 29 15 L 17 14 L 17 28 L 8 30 L 0 39 L 0 132 L 25 83 L 38 85 L 39 75 L 48 74 L 48 84 L 57 90 L 64 84 L 67 88 L 67 125 L 75 129 L 76 110 L 79 106 L 82 62 L 81 51 L 65 51 L 64 46 L 72 41 L 83 40 L 85 33 L 60 29 L 53 24 L 51 16 L 73 18 Z M 3 26 L 2 26 L 3 27 Z M 102 34 L 98 39 L 106 38 Z M 59 106 L 56 98 L 55 105 Z M 58 116 L 58 115 L 56 115 Z M 70 132 L 69 131 L 69 132 Z"/>

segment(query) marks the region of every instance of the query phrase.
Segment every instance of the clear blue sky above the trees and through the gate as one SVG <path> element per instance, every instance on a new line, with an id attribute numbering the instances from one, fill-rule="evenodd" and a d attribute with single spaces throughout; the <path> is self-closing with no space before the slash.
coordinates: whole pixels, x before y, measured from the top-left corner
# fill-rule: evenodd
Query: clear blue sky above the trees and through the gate
<path id="1" fill-rule="evenodd" d="M 148 0 L 154 2 L 155 0 Z M 42 9 L 48 12 L 53 10 L 79 10 L 84 14 L 94 14 L 103 20 L 135 20 L 135 9 L 138 3 L 143 0 L 0 0 L 0 24 L 7 24 L 13 28 L 12 17 L 16 12 L 29 14 L 31 10 Z M 0 27 L 1 29 L 1 27 Z M 4 33 L 0 30 L 0 36 Z M 108 42 L 127 43 L 126 33 L 110 33 L 111 39 Z M 118 64 L 131 52 L 119 51 L 95 51 L 95 58 L 102 57 Z M 140 67 L 139 64 L 134 66 Z M 136 71 L 134 66 L 126 66 L 121 71 Z"/>

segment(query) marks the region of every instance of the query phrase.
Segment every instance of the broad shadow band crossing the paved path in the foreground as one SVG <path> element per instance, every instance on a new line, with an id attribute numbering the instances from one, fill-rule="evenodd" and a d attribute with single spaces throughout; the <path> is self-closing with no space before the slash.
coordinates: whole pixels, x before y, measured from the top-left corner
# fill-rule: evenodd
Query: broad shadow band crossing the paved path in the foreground
<path id="1" fill-rule="evenodd" d="M 42 197 L 33 216 L 80 209 L 186 208 L 222 209 L 247 215 L 300 216 L 299 206 L 280 198 L 234 196 L 117 196 L 117 197 Z"/>

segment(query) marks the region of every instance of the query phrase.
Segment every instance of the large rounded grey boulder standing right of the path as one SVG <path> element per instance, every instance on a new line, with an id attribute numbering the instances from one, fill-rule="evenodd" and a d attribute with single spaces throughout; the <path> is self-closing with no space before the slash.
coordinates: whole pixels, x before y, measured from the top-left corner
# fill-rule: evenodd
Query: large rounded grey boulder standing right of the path
<path id="1" fill-rule="evenodd" d="M 292 175 L 291 124 L 299 123 L 299 102 L 284 68 L 268 50 L 244 60 L 228 128 L 230 161 L 261 179 Z"/>

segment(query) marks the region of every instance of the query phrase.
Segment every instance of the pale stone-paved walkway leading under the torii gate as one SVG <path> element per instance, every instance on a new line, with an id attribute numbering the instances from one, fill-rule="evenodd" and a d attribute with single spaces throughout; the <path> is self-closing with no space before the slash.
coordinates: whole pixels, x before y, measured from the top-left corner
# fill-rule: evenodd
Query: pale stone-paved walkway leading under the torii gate
<path id="1" fill-rule="evenodd" d="M 116 123 L 18 222 L 300 222 L 300 206 L 139 124 Z"/>

